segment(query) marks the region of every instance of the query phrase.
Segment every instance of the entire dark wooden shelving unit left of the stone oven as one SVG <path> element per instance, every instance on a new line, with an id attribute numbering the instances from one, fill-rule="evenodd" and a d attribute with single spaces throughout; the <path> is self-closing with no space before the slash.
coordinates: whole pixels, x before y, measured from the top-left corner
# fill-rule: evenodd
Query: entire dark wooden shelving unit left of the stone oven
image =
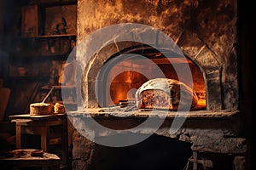
<path id="1" fill-rule="evenodd" d="M 20 34 L 10 38 L 11 115 L 28 113 L 31 103 L 44 99 L 44 87 L 61 86 L 53 72 L 61 77 L 77 36 L 77 0 L 22 0 L 20 13 Z"/>

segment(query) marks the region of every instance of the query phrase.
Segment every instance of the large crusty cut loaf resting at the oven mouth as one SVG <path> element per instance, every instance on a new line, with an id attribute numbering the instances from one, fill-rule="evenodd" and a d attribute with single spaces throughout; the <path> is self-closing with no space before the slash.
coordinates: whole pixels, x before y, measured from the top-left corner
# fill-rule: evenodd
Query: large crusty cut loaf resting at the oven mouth
<path id="1" fill-rule="evenodd" d="M 189 105 L 193 108 L 198 102 L 195 92 L 189 86 L 168 78 L 155 78 L 144 82 L 137 89 L 135 98 L 138 109 L 177 110 L 189 108 Z"/>

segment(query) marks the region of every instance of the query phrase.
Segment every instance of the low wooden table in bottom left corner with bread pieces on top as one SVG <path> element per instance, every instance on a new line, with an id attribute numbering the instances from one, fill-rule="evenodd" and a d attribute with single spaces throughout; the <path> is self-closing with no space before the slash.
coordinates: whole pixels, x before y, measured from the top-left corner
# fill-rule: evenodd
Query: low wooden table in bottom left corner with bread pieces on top
<path id="1" fill-rule="evenodd" d="M 43 169 L 60 169 L 61 159 L 55 154 L 44 152 L 43 156 L 31 156 L 34 149 L 22 149 L 13 151 L 25 152 L 20 157 L 0 157 L 0 165 L 2 170 L 11 170 L 20 167 L 43 167 Z"/>

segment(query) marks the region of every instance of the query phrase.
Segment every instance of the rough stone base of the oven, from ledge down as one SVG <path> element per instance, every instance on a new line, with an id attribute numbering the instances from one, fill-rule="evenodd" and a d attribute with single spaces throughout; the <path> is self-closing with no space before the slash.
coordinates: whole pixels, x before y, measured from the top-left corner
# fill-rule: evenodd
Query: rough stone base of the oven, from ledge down
<path id="1" fill-rule="evenodd" d="M 127 112 L 125 114 L 129 115 L 131 113 Z M 159 115 L 157 116 L 151 115 L 151 122 L 158 121 L 161 115 L 161 113 L 159 113 Z M 108 129 L 91 126 L 93 125 L 93 122 L 91 122 L 90 116 L 92 116 L 97 123 L 101 124 L 104 127 L 108 127 L 111 129 L 125 129 L 125 133 L 124 131 L 108 131 Z M 114 137 L 115 135 L 123 135 L 127 133 L 130 133 L 129 135 L 134 136 L 154 134 L 161 137 L 166 137 L 166 140 L 174 139 L 177 141 L 176 144 L 179 144 L 178 142 L 180 142 L 180 144 L 190 144 L 190 149 L 198 152 L 198 154 L 201 155 L 201 158 L 199 159 L 213 161 L 213 167 L 217 169 L 233 169 L 232 166 L 234 166 L 234 169 L 239 169 L 240 167 L 241 169 L 246 169 L 247 167 L 247 152 L 249 150 L 248 141 L 247 139 L 241 137 L 241 127 L 237 123 L 237 121 L 241 119 L 241 115 L 237 114 L 236 112 L 223 111 L 220 113 L 206 113 L 204 115 L 204 119 L 201 118 L 202 114 L 201 116 L 196 113 L 191 114 L 186 117 L 186 122 L 183 123 L 183 127 L 177 130 L 176 133 L 170 133 L 170 126 L 172 125 L 173 118 L 175 118 L 175 114 L 172 114 L 172 112 L 170 112 L 170 114 L 166 116 L 166 120 L 155 132 L 154 127 L 151 127 L 150 124 L 147 127 L 137 127 L 138 124 L 144 122 L 145 119 L 148 118 L 147 114 L 143 114 L 140 112 L 134 113 L 134 115 L 130 115 L 128 118 L 126 118 L 127 116 L 123 118 L 117 118 L 104 112 L 97 113 L 84 111 L 70 114 L 69 117 L 72 117 L 72 123 L 76 127 L 76 131 L 73 133 L 73 169 L 90 170 L 91 167 L 101 167 L 105 164 L 108 165 L 107 162 L 102 160 L 104 157 L 107 159 L 108 156 L 101 155 L 108 154 L 108 152 L 100 151 L 102 150 L 102 147 L 104 148 L 105 146 L 101 146 L 101 144 L 97 144 L 91 141 L 96 140 L 98 142 L 101 142 L 102 140 L 109 140 L 114 142 L 114 139 L 118 139 Z M 131 127 L 136 128 L 133 129 Z M 131 136 L 129 137 L 132 138 Z M 125 136 L 125 138 L 127 138 L 127 135 Z M 148 139 L 150 138 L 151 137 L 148 136 Z M 161 145 L 158 144 L 160 143 L 155 143 L 154 148 L 161 147 Z M 166 147 L 172 148 L 177 147 L 177 145 L 171 144 Z M 110 155 L 112 154 L 111 150 L 115 150 L 115 147 L 106 146 L 106 148 L 110 150 Z M 125 150 L 125 148 L 127 147 L 122 148 L 124 148 Z M 169 150 L 169 148 L 166 148 L 166 150 Z M 182 148 L 180 148 L 179 150 L 180 152 L 186 152 L 185 148 L 184 150 Z M 130 151 L 137 152 L 137 149 Z M 143 156 L 147 151 L 147 156 L 154 156 L 155 153 L 151 153 L 149 149 L 141 150 L 142 153 L 136 154 L 136 156 L 138 156 L 137 160 L 131 161 L 129 165 L 140 165 L 140 163 L 144 161 L 144 158 L 140 156 Z M 95 152 L 97 152 L 96 155 Z M 115 152 L 115 154 L 125 157 L 125 155 L 129 153 L 123 153 L 123 155 L 122 152 Z M 205 156 L 207 154 L 210 154 L 212 156 Z M 163 159 L 166 159 L 170 156 L 172 157 L 173 155 L 171 154 L 169 156 L 163 157 Z M 230 157 L 229 161 L 225 162 L 225 158 L 223 156 Z M 126 159 L 133 160 L 132 157 L 126 157 Z M 214 160 L 218 160 L 219 162 L 214 162 Z M 122 163 L 127 163 L 127 160 L 125 159 L 121 159 L 119 161 L 121 161 Z M 159 160 L 155 159 L 154 161 Z M 95 163 L 98 163 L 99 165 L 94 165 Z M 120 162 L 118 162 L 117 164 L 119 163 Z M 228 165 L 231 165 L 231 167 L 225 168 L 225 166 Z M 174 166 L 175 165 L 173 165 L 173 167 Z M 109 168 L 106 167 L 106 169 Z"/>

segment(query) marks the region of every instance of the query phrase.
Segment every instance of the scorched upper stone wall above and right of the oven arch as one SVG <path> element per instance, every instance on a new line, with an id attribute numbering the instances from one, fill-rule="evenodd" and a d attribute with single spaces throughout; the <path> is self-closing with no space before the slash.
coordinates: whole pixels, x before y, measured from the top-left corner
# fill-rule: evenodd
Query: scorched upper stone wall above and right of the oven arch
<path id="1" fill-rule="evenodd" d="M 236 1 L 78 1 L 78 42 L 105 26 L 128 22 L 160 29 L 177 42 L 183 54 L 195 61 L 206 79 L 207 104 L 213 104 L 208 109 L 237 109 Z M 97 41 L 102 41 L 101 37 Z M 109 41 L 114 42 L 115 38 Z M 119 52 L 124 48 L 117 45 L 116 49 L 116 45 L 108 49 Z M 82 50 L 86 48 L 89 47 Z M 104 59 L 89 57 L 93 67 L 84 71 L 86 87 L 94 82 L 88 78 L 88 72 L 98 71 L 95 65 L 101 67 L 110 55 Z M 84 89 L 88 97 L 93 96 L 90 92 Z M 85 106 L 95 105 L 84 100 Z"/>

